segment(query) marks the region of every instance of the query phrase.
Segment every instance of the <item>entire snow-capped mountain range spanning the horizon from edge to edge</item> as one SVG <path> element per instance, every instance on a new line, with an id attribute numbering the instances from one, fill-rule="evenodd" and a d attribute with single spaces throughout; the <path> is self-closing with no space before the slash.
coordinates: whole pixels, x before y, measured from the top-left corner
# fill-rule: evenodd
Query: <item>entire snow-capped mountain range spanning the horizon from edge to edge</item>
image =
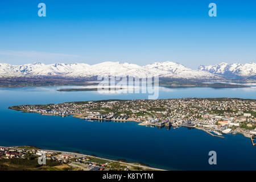
<path id="1" fill-rule="evenodd" d="M 106 61 L 99 64 L 24 64 L 10 65 L 0 63 L 0 77 L 94 77 L 94 76 L 133 76 L 146 77 L 148 74 L 158 74 L 159 77 L 213 79 L 221 77 L 251 77 L 256 75 L 256 64 L 214 64 L 200 65 L 199 69 L 187 68 L 182 64 L 171 61 L 156 62 L 140 66 L 137 64 Z"/>

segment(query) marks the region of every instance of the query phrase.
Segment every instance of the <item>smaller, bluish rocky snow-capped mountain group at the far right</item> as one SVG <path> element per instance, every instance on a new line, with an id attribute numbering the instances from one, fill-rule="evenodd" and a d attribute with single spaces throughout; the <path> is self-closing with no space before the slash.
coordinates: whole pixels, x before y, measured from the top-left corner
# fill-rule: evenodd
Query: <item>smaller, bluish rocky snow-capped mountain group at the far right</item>
<path id="1" fill-rule="evenodd" d="M 210 73 L 226 77 L 251 77 L 256 75 L 255 63 L 220 63 L 209 66 L 200 65 L 198 69 L 200 71 L 208 71 Z"/>

